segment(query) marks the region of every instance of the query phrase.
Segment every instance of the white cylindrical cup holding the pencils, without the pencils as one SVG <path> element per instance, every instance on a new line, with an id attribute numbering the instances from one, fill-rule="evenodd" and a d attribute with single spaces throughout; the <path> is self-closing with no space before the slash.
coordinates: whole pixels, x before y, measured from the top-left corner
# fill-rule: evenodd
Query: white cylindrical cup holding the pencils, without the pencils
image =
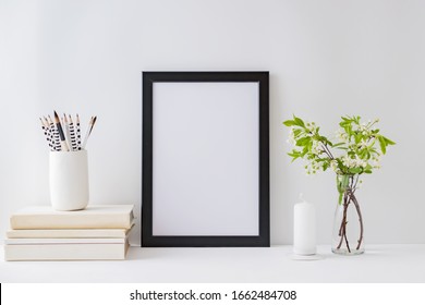
<path id="1" fill-rule="evenodd" d="M 87 150 L 50 151 L 49 182 L 53 209 L 84 209 L 88 205 Z"/>

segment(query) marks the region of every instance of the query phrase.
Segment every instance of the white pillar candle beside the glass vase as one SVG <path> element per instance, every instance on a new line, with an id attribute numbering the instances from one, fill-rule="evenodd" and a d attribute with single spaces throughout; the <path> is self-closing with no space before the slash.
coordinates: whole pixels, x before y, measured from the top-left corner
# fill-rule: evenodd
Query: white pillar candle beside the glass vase
<path id="1" fill-rule="evenodd" d="M 316 209 L 311 203 L 298 203 L 293 209 L 293 251 L 298 255 L 316 254 Z"/>

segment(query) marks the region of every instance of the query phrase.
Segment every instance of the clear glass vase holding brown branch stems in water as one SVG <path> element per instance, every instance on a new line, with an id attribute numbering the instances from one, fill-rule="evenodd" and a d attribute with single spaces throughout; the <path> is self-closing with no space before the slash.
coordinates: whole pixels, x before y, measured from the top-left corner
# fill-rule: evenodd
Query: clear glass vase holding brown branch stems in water
<path id="1" fill-rule="evenodd" d="M 339 200 L 333 218 L 332 252 L 341 255 L 364 253 L 363 217 L 355 197 L 359 175 L 338 175 Z"/>

